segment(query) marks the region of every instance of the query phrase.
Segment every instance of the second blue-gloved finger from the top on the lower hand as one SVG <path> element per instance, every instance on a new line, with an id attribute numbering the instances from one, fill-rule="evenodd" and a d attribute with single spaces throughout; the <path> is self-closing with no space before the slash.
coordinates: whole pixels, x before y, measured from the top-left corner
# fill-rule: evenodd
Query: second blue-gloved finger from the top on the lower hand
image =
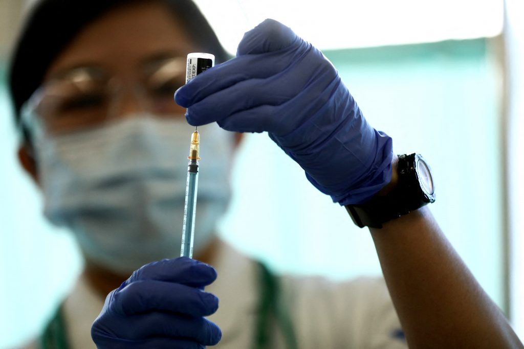
<path id="1" fill-rule="evenodd" d="M 107 297 L 108 309 L 124 316 L 151 310 L 209 316 L 219 307 L 219 299 L 208 292 L 157 280 L 139 280 Z"/>

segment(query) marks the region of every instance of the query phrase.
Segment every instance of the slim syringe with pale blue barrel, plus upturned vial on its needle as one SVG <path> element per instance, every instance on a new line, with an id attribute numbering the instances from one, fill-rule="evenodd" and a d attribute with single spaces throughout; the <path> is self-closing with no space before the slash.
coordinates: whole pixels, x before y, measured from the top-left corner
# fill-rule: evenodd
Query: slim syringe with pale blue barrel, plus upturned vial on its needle
<path id="1" fill-rule="evenodd" d="M 209 69 L 215 63 L 215 57 L 209 53 L 188 54 L 185 82 L 187 83 L 196 75 Z M 191 134 L 189 145 L 188 180 L 185 185 L 184 222 L 182 228 L 182 246 L 180 256 L 193 257 L 193 240 L 195 230 L 196 192 L 198 189 L 198 172 L 200 160 L 200 134 L 195 130 Z"/>

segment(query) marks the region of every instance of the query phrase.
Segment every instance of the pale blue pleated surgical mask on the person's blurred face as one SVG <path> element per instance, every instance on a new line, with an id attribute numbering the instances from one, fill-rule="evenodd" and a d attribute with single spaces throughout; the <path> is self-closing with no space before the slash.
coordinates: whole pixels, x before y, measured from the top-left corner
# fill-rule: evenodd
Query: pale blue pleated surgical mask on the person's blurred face
<path id="1" fill-rule="evenodd" d="M 68 227 L 85 256 L 119 274 L 179 256 L 187 156 L 183 119 L 134 115 L 104 127 L 36 140 L 45 216 Z M 230 200 L 233 137 L 201 134 L 194 253 L 214 236 Z"/>

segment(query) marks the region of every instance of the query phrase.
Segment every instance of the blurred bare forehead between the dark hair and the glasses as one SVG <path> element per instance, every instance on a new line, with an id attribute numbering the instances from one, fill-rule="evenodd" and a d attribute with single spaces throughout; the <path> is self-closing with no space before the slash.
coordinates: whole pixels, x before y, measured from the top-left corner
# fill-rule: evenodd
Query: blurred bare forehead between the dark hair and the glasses
<path id="1" fill-rule="evenodd" d="M 185 56 L 195 50 L 196 44 L 170 9 L 154 1 L 138 2 L 112 9 L 82 29 L 51 63 L 45 80 L 82 65 L 126 74 L 150 58 Z"/>

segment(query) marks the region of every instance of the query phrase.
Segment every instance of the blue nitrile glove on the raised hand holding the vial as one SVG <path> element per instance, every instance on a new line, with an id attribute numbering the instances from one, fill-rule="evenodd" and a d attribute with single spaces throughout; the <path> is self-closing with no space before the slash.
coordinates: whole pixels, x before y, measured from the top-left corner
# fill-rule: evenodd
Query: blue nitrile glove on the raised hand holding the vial
<path id="1" fill-rule="evenodd" d="M 191 125 L 267 131 L 341 205 L 390 181 L 391 138 L 368 125 L 322 52 L 275 20 L 245 33 L 237 57 L 194 77 L 175 100 Z"/>

